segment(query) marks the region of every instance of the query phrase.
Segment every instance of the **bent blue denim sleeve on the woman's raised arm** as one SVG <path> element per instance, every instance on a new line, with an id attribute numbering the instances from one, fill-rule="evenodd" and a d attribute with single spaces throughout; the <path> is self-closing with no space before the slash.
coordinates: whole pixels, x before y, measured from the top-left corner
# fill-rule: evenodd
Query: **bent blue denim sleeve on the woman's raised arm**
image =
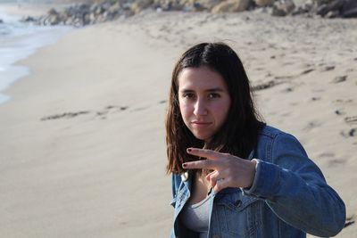
<path id="1" fill-rule="evenodd" d="M 293 135 L 278 134 L 272 162 L 259 160 L 245 194 L 264 199 L 282 220 L 306 233 L 334 236 L 345 226 L 345 204 Z"/>

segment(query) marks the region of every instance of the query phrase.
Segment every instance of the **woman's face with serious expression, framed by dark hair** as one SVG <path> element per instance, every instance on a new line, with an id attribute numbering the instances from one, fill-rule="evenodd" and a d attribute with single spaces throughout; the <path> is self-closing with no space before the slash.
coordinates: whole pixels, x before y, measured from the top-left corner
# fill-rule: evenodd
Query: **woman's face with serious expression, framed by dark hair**
<path id="1" fill-rule="evenodd" d="M 210 141 L 225 122 L 230 96 L 219 73 L 206 66 L 186 68 L 179 74 L 179 110 L 197 139 Z"/>

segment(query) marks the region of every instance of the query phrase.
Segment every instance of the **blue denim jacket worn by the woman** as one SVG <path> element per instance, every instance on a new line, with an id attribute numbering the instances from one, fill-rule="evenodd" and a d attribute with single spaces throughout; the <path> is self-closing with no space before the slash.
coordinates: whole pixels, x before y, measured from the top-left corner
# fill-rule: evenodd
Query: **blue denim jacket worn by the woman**
<path id="1" fill-rule="evenodd" d="M 249 189 L 210 193 L 208 237 L 334 236 L 345 226 L 345 204 L 327 185 L 293 135 L 265 126 L 247 160 L 258 165 Z M 172 175 L 173 228 L 170 237 L 198 234 L 182 226 L 179 212 L 190 197 L 193 175 Z"/>

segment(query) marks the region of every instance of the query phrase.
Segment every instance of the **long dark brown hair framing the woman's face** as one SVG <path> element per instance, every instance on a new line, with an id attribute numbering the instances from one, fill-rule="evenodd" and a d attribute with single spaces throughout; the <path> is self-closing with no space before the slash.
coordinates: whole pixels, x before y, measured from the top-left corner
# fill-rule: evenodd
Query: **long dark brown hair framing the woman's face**
<path id="1" fill-rule="evenodd" d="M 195 138 L 179 111 L 179 74 L 186 68 L 207 66 L 220 73 L 228 86 L 231 105 L 228 117 L 209 144 Z M 264 125 L 255 110 L 245 69 L 237 53 L 224 43 L 201 43 L 183 53 L 172 71 L 169 107 L 166 116 L 167 173 L 182 173 L 182 163 L 197 160 L 187 154 L 188 147 L 228 152 L 245 158 L 258 140 Z"/>

